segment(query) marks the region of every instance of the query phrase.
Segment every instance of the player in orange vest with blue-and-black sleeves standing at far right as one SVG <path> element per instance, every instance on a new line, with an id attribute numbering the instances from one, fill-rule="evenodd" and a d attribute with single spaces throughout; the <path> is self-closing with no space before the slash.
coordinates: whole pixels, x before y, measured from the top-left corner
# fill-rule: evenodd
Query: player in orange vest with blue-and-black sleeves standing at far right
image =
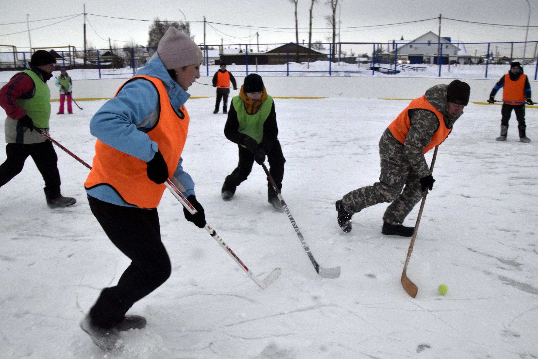
<path id="1" fill-rule="evenodd" d="M 495 140 L 506 141 L 506 135 L 508 134 L 508 120 L 510 120 L 510 114 L 512 110 L 515 112 L 515 118 L 518 120 L 519 139 L 521 142 L 530 142 L 530 139 L 526 136 L 525 125 L 525 102 L 529 105 L 533 105 L 534 102 L 530 99 L 530 84 L 526 74 L 523 74 L 523 68 L 518 62 L 510 64 L 510 71 L 501 79 L 490 93 L 489 103 L 495 102 L 495 94 L 499 91 L 499 88 L 504 87 L 502 92 L 502 108 L 501 108 L 501 135 Z"/>

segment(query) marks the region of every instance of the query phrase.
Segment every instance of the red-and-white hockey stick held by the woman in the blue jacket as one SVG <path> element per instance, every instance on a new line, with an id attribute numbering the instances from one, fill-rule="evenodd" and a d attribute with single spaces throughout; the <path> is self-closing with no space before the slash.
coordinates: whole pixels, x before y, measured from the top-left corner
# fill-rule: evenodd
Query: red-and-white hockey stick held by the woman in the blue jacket
<path id="1" fill-rule="evenodd" d="M 178 182 L 178 185 L 180 185 L 179 181 L 175 178 L 175 177 L 172 177 L 172 181 L 174 182 Z M 187 201 L 187 198 L 185 198 L 185 196 L 183 196 L 183 194 L 181 193 L 181 191 L 178 189 L 178 187 L 176 187 L 176 185 L 172 182 L 170 179 L 166 179 L 166 182 L 165 182 L 165 185 L 166 187 L 172 192 L 172 194 L 174 195 L 175 198 L 178 199 L 178 201 L 183 205 L 185 206 L 185 208 L 190 212 L 192 213 L 193 215 L 195 213 L 197 213 L 197 211 L 194 209 L 193 205 L 189 203 L 189 201 Z M 182 187 L 182 186 L 180 186 Z M 254 274 L 252 274 L 252 272 L 249 270 L 249 268 L 247 268 L 245 266 L 245 264 L 243 263 L 242 260 L 239 259 L 239 257 L 236 256 L 235 253 L 233 253 L 233 251 L 230 249 L 230 247 L 228 247 L 228 245 L 226 245 L 226 243 L 224 243 L 224 240 L 222 240 L 222 238 L 220 236 L 218 236 L 217 232 L 208 224 L 206 223 L 206 225 L 204 226 L 204 229 L 206 229 L 206 231 L 209 232 L 209 234 L 211 235 L 211 237 L 213 237 L 217 243 L 228 253 L 230 254 L 230 257 L 233 258 L 233 260 L 235 261 L 235 263 L 237 263 L 242 269 L 243 271 L 245 271 L 245 273 L 254 281 L 254 283 L 256 283 L 261 289 L 265 289 L 267 288 L 268 285 L 270 285 L 272 282 L 274 282 L 278 277 L 280 277 L 280 274 L 282 273 L 282 270 L 280 268 L 275 268 L 271 273 L 269 273 L 269 275 L 267 275 L 267 277 L 265 277 L 265 279 L 263 280 L 259 280 L 258 278 L 254 277 Z"/>

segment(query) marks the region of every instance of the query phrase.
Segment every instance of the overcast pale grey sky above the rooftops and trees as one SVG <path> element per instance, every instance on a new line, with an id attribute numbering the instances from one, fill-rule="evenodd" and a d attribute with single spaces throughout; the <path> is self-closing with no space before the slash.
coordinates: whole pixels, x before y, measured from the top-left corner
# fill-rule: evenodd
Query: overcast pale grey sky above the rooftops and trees
<path id="1" fill-rule="evenodd" d="M 54 47 L 72 45 L 83 49 L 84 3 L 86 3 L 86 38 L 97 49 L 114 46 L 130 40 L 147 44 L 148 28 L 155 17 L 161 20 L 197 22 L 191 24 L 191 34 L 197 43 L 204 43 L 203 19 L 206 17 L 208 45 L 260 44 L 295 42 L 294 5 L 289 0 L 265 1 L 172 1 L 172 0 L 70 0 L 58 4 L 52 0 L 25 0 L 13 2 L 1 0 L 0 44 L 15 45 L 19 51 L 30 47 Z M 538 1 L 530 3 L 530 26 L 538 26 Z M 330 42 L 331 31 L 325 16 L 330 15 L 326 0 L 319 0 L 313 10 L 313 42 Z M 414 0 L 358 1 L 340 0 L 338 16 L 341 22 L 342 42 L 380 42 L 389 39 L 406 40 L 419 37 L 427 31 L 438 32 L 438 19 L 406 25 L 366 27 L 436 18 L 442 14 L 441 36 L 470 42 L 519 42 L 525 40 L 529 15 L 527 0 L 451 0 L 434 2 Z M 402 5 L 404 4 L 404 5 Z M 310 0 L 299 0 L 299 42 L 308 43 L 308 19 Z M 181 11 L 180 11 L 181 10 Z M 184 15 L 183 15 L 184 14 Z M 30 39 L 27 31 L 29 15 Z M 69 19 L 69 15 L 74 18 Z M 77 16 L 78 15 L 78 16 Z M 98 15 L 98 16 L 96 16 Z M 120 17 L 122 20 L 110 17 Z M 55 18 L 55 19 L 53 19 Z M 520 25 L 520 27 L 474 25 L 450 19 L 480 23 Z M 45 20 L 48 19 L 48 20 Z M 146 21 L 141 21 L 146 20 Z M 215 24 L 218 23 L 218 24 Z M 223 24 L 235 24 L 228 26 Z M 245 26 L 252 26 L 251 28 Z M 538 40 L 538 27 L 530 27 L 528 40 Z M 6 51 L 6 47 L 0 47 Z M 534 46 L 533 46 L 534 50 Z"/>

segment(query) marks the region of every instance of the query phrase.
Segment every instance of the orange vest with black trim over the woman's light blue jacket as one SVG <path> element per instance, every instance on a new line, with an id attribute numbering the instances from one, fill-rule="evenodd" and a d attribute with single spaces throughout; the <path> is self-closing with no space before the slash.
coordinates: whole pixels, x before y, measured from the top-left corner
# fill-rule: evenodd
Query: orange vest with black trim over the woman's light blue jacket
<path id="1" fill-rule="evenodd" d="M 176 113 L 168 100 L 168 93 L 161 80 L 145 75 L 136 76 L 125 82 L 118 89 L 133 79 L 143 78 L 151 81 L 159 92 L 160 113 L 157 124 L 147 132 L 152 141 L 157 142 L 159 151 L 168 166 L 168 177 L 172 177 L 181 157 L 183 146 L 187 139 L 189 115 L 185 106 Z M 118 94 L 116 92 L 116 95 Z M 93 188 L 97 185 L 109 185 L 123 198 L 126 203 L 140 208 L 156 208 L 159 205 L 164 183 L 157 184 L 147 177 L 147 164 L 139 158 L 104 144 L 100 140 L 95 143 L 93 165 L 84 187 Z"/>

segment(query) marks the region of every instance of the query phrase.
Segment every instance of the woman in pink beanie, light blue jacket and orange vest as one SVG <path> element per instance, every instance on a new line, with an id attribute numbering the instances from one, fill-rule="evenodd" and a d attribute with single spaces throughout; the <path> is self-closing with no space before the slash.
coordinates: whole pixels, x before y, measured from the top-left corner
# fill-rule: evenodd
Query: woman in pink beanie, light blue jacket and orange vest
<path id="1" fill-rule="evenodd" d="M 187 89 L 200 78 L 201 61 L 194 41 L 169 27 L 157 52 L 90 121 L 90 132 L 97 137 L 84 183 L 90 209 L 112 243 L 131 260 L 117 284 L 101 291 L 80 322 L 105 351 L 121 346 L 119 332 L 145 327 L 144 317 L 125 313 L 171 274 L 157 212 L 167 178 L 180 181 L 183 196 L 198 211 L 183 211 L 185 218 L 200 228 L 206 224 L 181 158 L 189 122 L 184 103 Z"/>

